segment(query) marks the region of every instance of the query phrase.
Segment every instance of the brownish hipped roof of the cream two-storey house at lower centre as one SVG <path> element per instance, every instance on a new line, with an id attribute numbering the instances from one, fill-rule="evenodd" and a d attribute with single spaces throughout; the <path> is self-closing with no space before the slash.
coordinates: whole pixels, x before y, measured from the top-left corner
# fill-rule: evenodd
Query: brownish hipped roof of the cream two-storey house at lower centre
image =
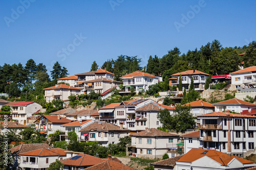
<path id="1" fill-rule="evenodd" d="M 169 137 L 169 136 L 175 136 L 175 137 L 178 137 L 179 135 L 164 132 L 164 131 L 158 130 L 156 128 L 151 128 L 151 129 L 146 128 L 146 130 L 138 132 L 138 133 L 131 134 L 130 136 L 140 136 L 140 137 L 154 137 L 154 136 Z"/>

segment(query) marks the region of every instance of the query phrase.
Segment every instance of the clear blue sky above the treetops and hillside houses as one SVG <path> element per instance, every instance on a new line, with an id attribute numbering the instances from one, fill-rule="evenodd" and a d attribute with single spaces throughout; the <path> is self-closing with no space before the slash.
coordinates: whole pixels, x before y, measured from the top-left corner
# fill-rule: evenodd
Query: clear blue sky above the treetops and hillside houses
<path id="1" fill-rule="evenodd" d="M 0 1 L 0 65 L 29 59 L 71 75 L 117 56 L 162 57 L 217 39 L 223 47 L 256 40 L 256 1 Z"/>

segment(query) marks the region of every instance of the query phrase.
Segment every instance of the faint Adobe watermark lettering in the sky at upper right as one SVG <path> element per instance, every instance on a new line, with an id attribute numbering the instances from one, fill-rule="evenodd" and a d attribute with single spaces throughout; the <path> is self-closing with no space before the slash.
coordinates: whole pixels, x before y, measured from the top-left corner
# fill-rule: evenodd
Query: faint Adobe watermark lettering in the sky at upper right
<path id="1" fill-rule="evenodd" d="M 206 6 L 206 3 L 204 0 L 200 0 L 198 2 L 198 5 L 195 6 L 189 6 L 189 8 L 191 9 L 190 11 L 187 12 L 187 14 L 181 14 L 182 18 L 181 18 L 181 22 L 174 22 L 174 26 L 176 28 L 176 30 L 178 31 L 178 33 L 180 32 L 180 28 L 184 28 L 191 19 L 193 19 L 196 14 L 198 14 L 201 11 L 201 8 L 204 8 Z"/>

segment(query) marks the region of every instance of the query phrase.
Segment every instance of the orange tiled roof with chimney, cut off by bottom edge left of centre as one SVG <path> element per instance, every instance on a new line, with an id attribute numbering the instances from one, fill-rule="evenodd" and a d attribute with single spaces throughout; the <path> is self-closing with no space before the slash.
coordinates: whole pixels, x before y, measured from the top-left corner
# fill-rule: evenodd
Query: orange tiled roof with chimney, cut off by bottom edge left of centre
<path id="1" fill-rule="evenodd" d="M 130 166 L 124 165 L 123 163 L 116 162 L 113 160 L 105 160 L 104 162 L 101 162 L 99 164 L 93 165 L 91 167 L 85 168 L 88 170 L 98 170 L 98 169 L 104 169 L 104 170 L 134 170 L 135 168 L 132 168 Z"/>

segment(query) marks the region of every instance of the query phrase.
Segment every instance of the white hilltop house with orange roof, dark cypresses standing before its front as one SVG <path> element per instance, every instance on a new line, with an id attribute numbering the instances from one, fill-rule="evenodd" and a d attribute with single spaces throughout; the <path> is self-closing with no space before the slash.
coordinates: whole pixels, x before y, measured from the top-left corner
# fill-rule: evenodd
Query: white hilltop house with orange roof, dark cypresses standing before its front
<path id="1" fill-rule="evenodd" d="M 193 78 L 195 90 L 203 91 L 204 84 L 206 83 L 206 78 L 209 77 L 208 74 L 195 69 L 187 70 L 183 72 L 178 72 L 176 74 L 170 75 L 170 77 L 175 77 L 177 80 L 171 80 L 172 85 L 179 85 L 179 77 L 181 75 L 182 87 L 188 89 L 191 83 L 191 78 Z"/>

